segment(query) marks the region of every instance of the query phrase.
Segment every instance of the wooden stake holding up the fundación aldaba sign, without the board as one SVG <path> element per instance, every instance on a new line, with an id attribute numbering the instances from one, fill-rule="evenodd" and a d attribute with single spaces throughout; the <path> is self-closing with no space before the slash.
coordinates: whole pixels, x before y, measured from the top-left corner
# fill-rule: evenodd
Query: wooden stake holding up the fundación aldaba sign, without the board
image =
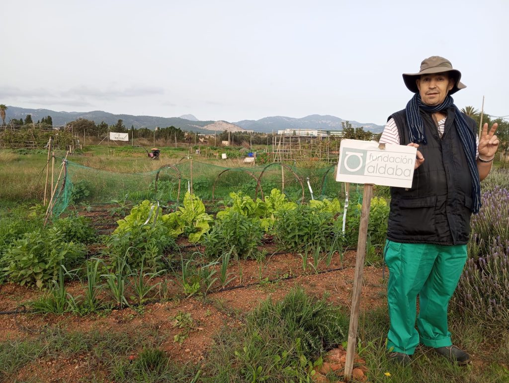
<path id="1" fill-rule="evenodd" d="M 353 280 L 352 308 L 350 310 L 350 328 L 348 330 L 347 360 L 345 362 L 345 377 L 352 376 L 353 360 L 357 348 L 357 325 L 359 322 L 359 306 L 362 289 L 362 272 L 366 255 L 367 223 L 370 219 L 371 197 L 373 184 L 364 185 L 362 195 L 362 210 L 360 214 L 359 239 L 357 241 L 357 260 L 355 262 L 355 277 Z"/>

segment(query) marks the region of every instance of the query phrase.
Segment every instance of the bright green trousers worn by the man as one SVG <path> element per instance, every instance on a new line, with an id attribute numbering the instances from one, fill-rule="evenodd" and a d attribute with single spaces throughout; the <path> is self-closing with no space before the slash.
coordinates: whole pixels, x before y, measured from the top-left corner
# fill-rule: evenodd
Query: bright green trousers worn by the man
<path id="1" fill-rule="evenodd" d="M 387 349 L 412 355 L 419 344 L 419 333 L 420 342 L 426 346 L 451 345 L 447 329 L 447 305 L 466 259 L 466 245 L 386 242 L 390 317 Z M 415 330 L 417 294 L 419 333 Z"/>

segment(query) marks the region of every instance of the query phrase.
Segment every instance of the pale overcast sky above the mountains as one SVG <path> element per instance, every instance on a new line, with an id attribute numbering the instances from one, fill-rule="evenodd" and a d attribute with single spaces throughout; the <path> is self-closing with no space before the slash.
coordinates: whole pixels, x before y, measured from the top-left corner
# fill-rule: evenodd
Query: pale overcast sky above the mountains
<path id="1" fill-rule="evenodd" d="M 199 120 L 331 114 L 382 125 L 441 55 L 454 95 L 509 115 L 509 2 L 22 1 L 0 7 L 0 104 Z"/>

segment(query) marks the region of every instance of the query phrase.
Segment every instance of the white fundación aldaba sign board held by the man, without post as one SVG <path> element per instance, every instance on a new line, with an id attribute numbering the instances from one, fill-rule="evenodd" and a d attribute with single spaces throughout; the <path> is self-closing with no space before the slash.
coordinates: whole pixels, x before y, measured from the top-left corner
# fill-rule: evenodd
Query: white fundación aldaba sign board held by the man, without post
<path id="1" fill-rule="evenodd" d="M 416 153 L 413 146 L 341 140 L 336 181 L 411 188 Z"/>

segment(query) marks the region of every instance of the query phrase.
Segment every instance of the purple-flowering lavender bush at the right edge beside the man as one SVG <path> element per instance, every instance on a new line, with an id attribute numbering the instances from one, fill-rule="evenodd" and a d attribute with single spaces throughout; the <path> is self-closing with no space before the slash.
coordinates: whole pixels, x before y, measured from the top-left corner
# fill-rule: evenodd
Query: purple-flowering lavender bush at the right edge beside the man
<path id="1" fill-rule="evenodd" d="M 472 217 L 468 260 L 451 302 L 461 313 L 509 319 L 509 191 L 494 186 Z"/>

